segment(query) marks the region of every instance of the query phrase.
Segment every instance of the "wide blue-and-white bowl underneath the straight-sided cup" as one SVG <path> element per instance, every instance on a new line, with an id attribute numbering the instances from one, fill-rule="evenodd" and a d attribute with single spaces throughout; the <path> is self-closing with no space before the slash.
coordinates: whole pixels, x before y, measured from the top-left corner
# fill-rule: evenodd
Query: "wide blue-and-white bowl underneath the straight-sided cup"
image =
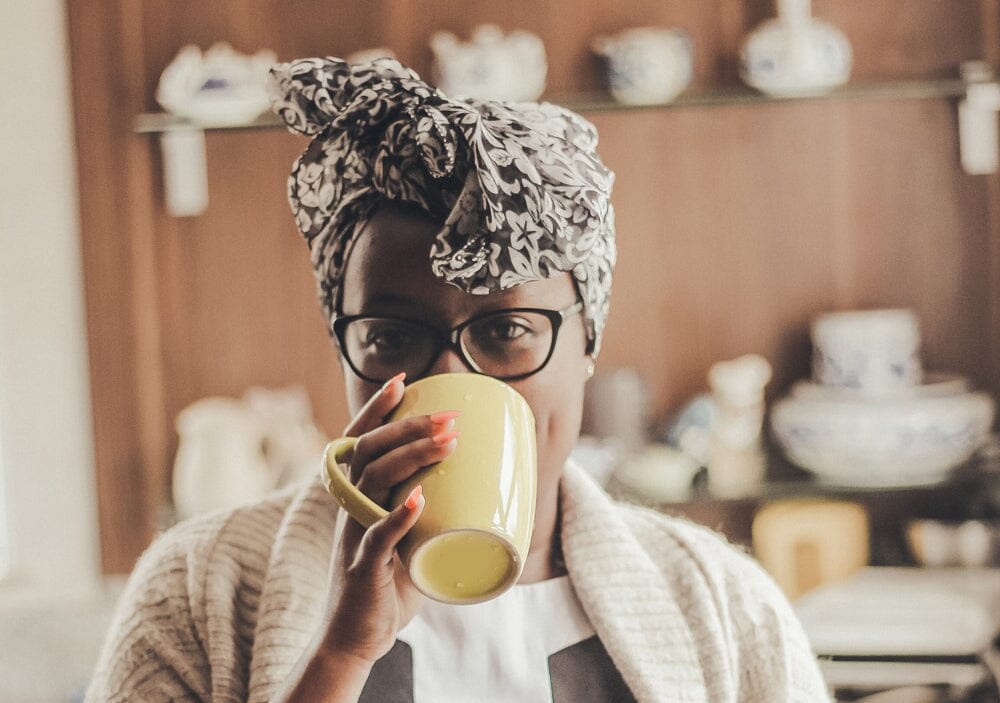
<path id="1" fill-rule="evenodd" d="M 995 404 L 986 393 L 892 398 L 789 396 L 771 411 L 785 454 L 840 486 L 938 483 L 989 437 Z"/>

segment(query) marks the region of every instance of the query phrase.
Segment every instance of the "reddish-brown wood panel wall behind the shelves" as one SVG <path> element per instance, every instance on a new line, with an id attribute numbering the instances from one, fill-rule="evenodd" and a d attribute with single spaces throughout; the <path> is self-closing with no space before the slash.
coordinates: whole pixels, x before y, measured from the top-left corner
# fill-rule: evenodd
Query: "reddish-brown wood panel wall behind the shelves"
<path id="1" fill-rule="evenodd" d="M 346 421 L 308 257 L 284 200 L 304 140 L 278 130 L 208 136 L 208 212 L 169 217 L 156 109 L 184 44 L 219 39 L 280 58 L 386 45 L 430 75 L 435 29 L 480 22 L 537 32 L 549 94 L 600 90 L 590 39 L 680 26 L 695 83 L 736 81 L 742 36 L 769 0 L 444 0 L 293 4 L 70 0 L 83 252 L 104 568 L 124 572 L 169 495 L 172 419 L 205 395 L 305 385 L 328 432 Z M 814 0 L 855 49 L 857 80 L 957 75 L 996 60 L 996 0 Z M 869 99 L 590 115 L 618 173 L 620 262 L 601 366 L 632 366 L 665 415 L 708 367 L 748 351 L 775 364 L 772 393 L 807 373 L 817 312 L 907 305 L 928 366 L 1000 390 L 995 177 L 958 166 L 948 99 Z M 641 338 L 637 330 L 642 329 Z"/>

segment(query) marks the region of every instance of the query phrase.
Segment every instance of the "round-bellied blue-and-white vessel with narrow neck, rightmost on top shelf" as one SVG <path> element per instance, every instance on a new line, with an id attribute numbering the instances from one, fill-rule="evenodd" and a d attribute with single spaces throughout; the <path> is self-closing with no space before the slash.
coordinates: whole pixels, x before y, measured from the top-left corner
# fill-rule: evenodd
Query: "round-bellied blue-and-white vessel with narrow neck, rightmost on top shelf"
<path id="1" fill-rule="evenodd" d="M 833 25 L 812 16 L 810 0 L 777 0 L 778 17 L 743 43 L 744 82 L 775 97 L 822 95 L 847 82 L 851 44 Z"/>

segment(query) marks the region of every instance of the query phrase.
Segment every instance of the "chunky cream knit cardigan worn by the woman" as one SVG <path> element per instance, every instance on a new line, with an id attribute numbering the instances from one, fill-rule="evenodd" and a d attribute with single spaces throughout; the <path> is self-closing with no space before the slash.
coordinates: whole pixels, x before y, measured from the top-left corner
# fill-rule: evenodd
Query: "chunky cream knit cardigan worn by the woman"
<path id="1" fill-rule="evenodd" d="M 570 579 L 638 701 L 829 700 L 749 557 L 613 502 L 572 465 L 561 501 Z M 164 535 L 129 580 L 87 701 L 271 700 L 321 621 L 336 522 L 317 481 Z"/>

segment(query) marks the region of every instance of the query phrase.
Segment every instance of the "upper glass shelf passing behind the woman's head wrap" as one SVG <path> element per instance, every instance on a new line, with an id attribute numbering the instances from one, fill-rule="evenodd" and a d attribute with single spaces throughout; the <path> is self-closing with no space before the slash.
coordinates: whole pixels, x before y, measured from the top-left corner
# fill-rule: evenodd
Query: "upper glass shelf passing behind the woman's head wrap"
<path id="1" fill-rule="evenodd" d="M 685 108 L 723 107 L 726 105 L 775 105 L 820 100 L 925 100 L 956 98 L 965 95 L 967 84 L 958 78 L 899 80 L 877 83 L 851 83 L 823 95 L 776 98 L 747 87 L 734 86 L 692 90 L 669 103 L 624 105 L 606 95 L 545 96 L 544 99 L 583 114 L 635 112 L 642 110 L 680 110 Z M 264 114 L 253 122 L 240 124 L 200 124 L 169 113 L 144 113 L 135 119 L 133 129 L 139 134 L 161 134 L 181 130 L 248 130 L 283 128 L 275 115 Z"/>

